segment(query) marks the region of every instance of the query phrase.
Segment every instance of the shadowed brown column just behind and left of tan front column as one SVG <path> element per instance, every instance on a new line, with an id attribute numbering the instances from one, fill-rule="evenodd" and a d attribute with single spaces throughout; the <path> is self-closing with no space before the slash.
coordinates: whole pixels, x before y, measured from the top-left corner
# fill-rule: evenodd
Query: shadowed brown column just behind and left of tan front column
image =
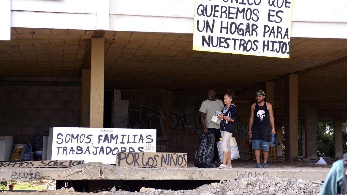
<path id="1" fill-rule="evenodd" d="M 90 116 L 90 69 L 82 69 L 81 127 L 89 127 Z"/>

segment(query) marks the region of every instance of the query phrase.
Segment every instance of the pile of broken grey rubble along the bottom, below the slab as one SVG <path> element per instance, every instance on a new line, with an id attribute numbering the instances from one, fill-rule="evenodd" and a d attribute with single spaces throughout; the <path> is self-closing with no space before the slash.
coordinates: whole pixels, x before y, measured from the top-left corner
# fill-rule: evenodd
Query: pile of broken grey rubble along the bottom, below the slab
<path id="1" fill-rule="evenodd" d="M 205 184 L 193 190 L 164 190 L 142 187 L 139 192 L 128 192 L 121 189 L 108 189 L 110 191 L 101 191 L 97 194 L 119 194 L 119 195 L 318 195 L 322 187 L 321 181 L 304 181 L 301 179 L 289 179 L 277 177 L 251 177 L 244 179 L 235 179 L 220 181 L 219 183 Z M 7 192 L 8 193 L 8 192 Z M 1 195 L 2 193 L 0 193 Z M 21 194 L 21 193 L 16 193 Z M 45 191 L 39 194 L 95 194 L 80 193 L 74 190 L 59 189 L 54 191 Z"/>

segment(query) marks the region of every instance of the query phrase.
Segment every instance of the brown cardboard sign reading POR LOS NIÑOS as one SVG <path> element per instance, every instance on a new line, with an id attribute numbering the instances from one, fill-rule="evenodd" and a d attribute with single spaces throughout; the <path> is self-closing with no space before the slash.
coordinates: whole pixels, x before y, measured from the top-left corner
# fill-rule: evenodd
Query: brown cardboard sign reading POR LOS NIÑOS
<path id="1" fill-rule="evenodd" d="M 187 153 L 118 152 L 119 167 L 187 167 Z"/>

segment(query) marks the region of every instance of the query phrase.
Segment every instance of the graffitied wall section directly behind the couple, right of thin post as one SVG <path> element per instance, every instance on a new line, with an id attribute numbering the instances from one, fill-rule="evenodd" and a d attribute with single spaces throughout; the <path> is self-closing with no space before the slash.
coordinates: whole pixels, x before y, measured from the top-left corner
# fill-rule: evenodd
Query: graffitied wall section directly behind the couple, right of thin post
<path id="1" fill-rule="evenodd" d="M 222 99 L 222 92 L 217 92 L 217 98 Z M 193 161 L 197 142 L 202 134 L 201 103 L 207 99 L 205 91 L 173 91 L 172 98 L 172 152 L 188 153 L 188 160 Z M 251 158 L 249 138 L 250 104 L 235 104 L 238 109 L 235 139 L 240 152 L 240 159 Z"/>

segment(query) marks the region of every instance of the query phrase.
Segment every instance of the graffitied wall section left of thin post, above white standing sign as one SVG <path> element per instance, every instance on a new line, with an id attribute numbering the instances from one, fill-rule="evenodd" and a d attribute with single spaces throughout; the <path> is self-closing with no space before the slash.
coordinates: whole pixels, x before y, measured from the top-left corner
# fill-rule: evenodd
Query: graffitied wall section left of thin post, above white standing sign
<path id="1" fill-rule="evenodd" d="M 115 90 L 113 125 L 118 128 L 156 129 L 157 141 L 167 140 L 165 94 L 167 92 L 163 90 Z"/>

